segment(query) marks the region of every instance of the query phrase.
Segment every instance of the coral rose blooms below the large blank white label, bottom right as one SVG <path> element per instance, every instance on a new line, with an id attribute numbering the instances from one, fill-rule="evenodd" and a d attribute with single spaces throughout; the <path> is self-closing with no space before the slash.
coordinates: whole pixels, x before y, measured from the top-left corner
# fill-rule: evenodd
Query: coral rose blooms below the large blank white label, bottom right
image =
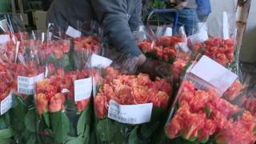
<path id="1" fill-rule="evenodd" d="M 236 84 L 234 84 L 236 85 Z M 255 119 L 249 111 L 236 120 L 242 109 L 220 98 L 214 90 L 197 89 L 194 82 L 184 81 L 178 97 L 178 110 L 166 126 L 169 138 L 217 143 L 254 143 Z"/>

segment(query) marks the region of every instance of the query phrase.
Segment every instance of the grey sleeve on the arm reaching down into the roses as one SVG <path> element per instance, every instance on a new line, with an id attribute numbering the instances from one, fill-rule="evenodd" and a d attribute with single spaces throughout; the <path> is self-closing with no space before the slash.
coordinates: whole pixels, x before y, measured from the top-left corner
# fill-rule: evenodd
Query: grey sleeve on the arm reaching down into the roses
<path id="1" fill-rule="evenodd" d="M 90 0 L 90 2 L 110 44 L 126 54 L 134 56 L 141 54 L 130 30 L 126 0 Z"/>

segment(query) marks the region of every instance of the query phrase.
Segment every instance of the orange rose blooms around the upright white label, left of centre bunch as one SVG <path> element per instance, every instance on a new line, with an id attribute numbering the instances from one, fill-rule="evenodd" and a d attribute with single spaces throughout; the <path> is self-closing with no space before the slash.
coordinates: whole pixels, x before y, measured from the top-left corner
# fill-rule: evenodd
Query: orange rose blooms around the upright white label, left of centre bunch
<path id="1" fill-rule="evenodd" d="M 52 64 L 50 64 L 50 66 L 54 67 Z M 84 78 L 89 78 L 89 73 L 86 70 L 69 71 L 65 73 L 64 70 L 58 69 L 56 76 L 51 76 L 50 78 L 39 81 L 36 85 L 35 95 L 38 114 L 41 115 L 48 110 L 50 113 L 64 110 L 66 98 L 70 98 L 70 100 L 74 102 L 74 81 Z M 89 100 L 90 99 L 84 99 L 77 102 L 79 113 L 86 109 Z M 40 103 L 47 103 L 47 105 L 40 105 Z"/>

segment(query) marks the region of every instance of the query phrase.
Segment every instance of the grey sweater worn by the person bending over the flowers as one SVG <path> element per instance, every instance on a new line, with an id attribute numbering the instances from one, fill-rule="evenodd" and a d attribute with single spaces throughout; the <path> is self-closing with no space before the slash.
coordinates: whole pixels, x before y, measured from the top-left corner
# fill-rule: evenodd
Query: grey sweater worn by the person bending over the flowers
<path id="1" fill-rule="evenodd" d="M 142 25 L 141 0 L 55 0 L 47 22 L 66 30 L 77 28 L 77 22 L 98 21 L 111 45 L 126 54 L 141 54 L 133 31 Z"/>

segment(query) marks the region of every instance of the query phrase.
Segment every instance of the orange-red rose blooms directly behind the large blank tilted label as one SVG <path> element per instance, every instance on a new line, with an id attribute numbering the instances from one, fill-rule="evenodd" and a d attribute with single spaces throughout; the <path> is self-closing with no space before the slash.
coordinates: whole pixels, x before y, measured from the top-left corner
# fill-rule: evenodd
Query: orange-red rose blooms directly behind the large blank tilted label
<path id="1" fill-rule="evenodd" d="M 195 44 L 194 51 L 202 52 L 222 66 L 227 66 L 234 60 L 234 40 L 209 38 L 204 43 Z"/>

